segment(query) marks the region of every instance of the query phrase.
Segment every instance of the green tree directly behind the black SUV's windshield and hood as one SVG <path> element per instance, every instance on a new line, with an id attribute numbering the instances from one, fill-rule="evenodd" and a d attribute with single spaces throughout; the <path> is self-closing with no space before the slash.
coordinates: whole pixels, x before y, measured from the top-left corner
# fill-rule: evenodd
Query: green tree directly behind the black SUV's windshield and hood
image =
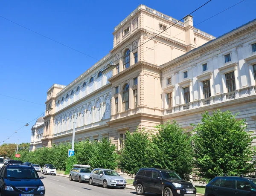
<path id="1" fill-rule="evenodd" d="M 157 125 L 152 137 L 154 166 L 174 170 L 183 179 L 189 179 L 193 166 L 191 138 L 173 121 Z"/>

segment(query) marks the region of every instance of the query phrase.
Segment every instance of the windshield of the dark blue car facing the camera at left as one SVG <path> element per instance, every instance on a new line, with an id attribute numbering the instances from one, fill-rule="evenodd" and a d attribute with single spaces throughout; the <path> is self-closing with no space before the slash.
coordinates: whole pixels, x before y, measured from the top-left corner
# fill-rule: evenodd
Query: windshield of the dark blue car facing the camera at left
<path id="1" fill-rule="evenodd" d="M 17 178 L 17 179 L 39 179 L 38 174 L 33 168 L 7 168 L 6 178 Z"/>

